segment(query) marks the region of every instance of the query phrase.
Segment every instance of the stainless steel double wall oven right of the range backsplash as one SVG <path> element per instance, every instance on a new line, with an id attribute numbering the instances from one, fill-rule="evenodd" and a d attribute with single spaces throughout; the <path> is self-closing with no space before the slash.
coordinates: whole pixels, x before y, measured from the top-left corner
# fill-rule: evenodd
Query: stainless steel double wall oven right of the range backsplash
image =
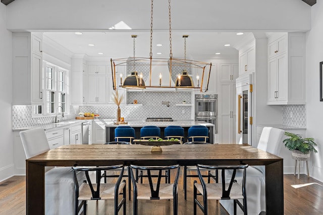
<path id="1" fill-rule="evenodd" d="M 218 133 L 218 94 L 195 95 L 195 121 L 204 121 L 215 125 Z"/>

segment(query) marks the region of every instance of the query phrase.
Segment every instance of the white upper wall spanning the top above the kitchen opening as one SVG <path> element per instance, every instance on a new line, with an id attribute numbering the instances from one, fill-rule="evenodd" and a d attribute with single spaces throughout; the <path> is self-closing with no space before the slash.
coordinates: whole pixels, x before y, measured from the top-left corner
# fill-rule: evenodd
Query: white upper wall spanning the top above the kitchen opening
<path id="1" fill-rule="evenodd" d="M 171 6 L 173 30 L 310 29 L 311 7 L 300 0 L 177 0 Z M 150 27 L 150 1 L 24 0 L 7 7 L 13 30 L 108 29 L 120 21 L 132 29 Z M 153 8 L 154 29 L 169 29 L 167 1 L 154 1 Z"/>

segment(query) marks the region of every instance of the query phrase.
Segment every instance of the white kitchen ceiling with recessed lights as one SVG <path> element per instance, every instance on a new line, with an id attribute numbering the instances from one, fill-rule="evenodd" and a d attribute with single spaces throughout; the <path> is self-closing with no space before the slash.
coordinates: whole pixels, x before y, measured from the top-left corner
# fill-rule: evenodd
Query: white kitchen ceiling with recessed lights
<path id="1" fill-rule="evenodd" d="M 53 40 L 74 54 L 86 54 L 89 57 L 119 58 L 133 56 L 133 38 L 135 38 L 135 56 L 149 57 L 150 32 L 141 31 L 106 31 L 106 32 L 45 32 L 45 38 Z M 238 32 L 172 32 L 172 55 L 184 58 L 186 38 L 186 58 L 194 60 L 207 60 L 217 58 L 238 57 L 235 48 L 242 41 L 248 40 L 252 33 L 237 35 Z M 93 44 L 94 46 L 89 46 Z M 162 44 L 163 46 L 156 46 Z M 230 44 L 230 46 L 225 46 Z M 161 54 L 157 54 L 157 53 Z M 98 54 L 103 53 L 103 54 Z M 221 53 L 221 54 L 216 54 Z M 169 31 L 157 31 L 152 33 L 152 56 L 169 58 L 170 33 Z"/>

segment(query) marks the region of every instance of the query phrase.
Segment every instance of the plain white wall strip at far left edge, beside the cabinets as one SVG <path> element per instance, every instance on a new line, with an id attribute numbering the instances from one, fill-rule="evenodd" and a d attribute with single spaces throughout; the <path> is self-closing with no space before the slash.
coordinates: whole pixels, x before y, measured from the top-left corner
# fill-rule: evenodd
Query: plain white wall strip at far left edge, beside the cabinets
<path id="1" fill-rule="evenodd" d="M 0 4 L 0 181 L 14 174 L 11 122 L 12 33 L 6 27 L 6 6 Z"/>

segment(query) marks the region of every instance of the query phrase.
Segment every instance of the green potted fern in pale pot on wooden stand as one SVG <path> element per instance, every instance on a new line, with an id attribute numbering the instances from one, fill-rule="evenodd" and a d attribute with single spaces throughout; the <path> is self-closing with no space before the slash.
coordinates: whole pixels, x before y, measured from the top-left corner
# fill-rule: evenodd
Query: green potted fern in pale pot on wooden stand
<path id="1" fill-rule="evenodd" d="M 288 138 L 284 139 L 283 142 L 285 147 L 292 152 L 292 158 L 294 160 L 307 161 L 310 158 L 310 153 L 317 153 L 315 147 L 317 144 L 314 142 L 314 138 L 308 137 L 303 138 L 299 134 L 285 132 Z"/>

